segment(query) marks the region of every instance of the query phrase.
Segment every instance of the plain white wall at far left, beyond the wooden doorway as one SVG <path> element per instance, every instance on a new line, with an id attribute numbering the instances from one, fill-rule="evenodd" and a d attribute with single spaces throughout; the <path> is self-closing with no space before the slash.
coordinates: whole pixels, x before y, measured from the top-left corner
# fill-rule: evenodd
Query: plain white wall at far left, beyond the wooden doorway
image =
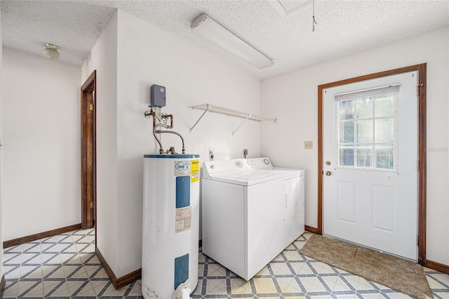
<path id="1" fill-rule="evenodd" d="M 3 49 L 4 240 L 81 222 L 80 77 Z"/>

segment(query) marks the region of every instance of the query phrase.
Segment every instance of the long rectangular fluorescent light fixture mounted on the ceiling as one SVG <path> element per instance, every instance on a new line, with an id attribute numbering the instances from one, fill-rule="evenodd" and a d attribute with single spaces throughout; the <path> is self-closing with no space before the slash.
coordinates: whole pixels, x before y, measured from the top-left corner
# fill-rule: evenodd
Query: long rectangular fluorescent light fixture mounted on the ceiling
<path id="1" fill-rule="evenodd" d="M 260 69 L 274 64 L 273 60 L 246 44 L 239 36 L 212 20 L 206 13 L 201 13 L 193 20 L 191 28 L 194 32 Z"/>

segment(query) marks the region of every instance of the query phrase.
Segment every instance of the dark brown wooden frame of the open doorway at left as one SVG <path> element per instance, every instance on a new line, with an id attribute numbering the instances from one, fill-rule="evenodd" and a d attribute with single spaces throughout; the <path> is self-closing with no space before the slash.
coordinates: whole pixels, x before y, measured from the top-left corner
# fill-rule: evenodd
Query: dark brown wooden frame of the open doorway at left
<path id="1" fill-rule="evenodd" d="M 94 70 L 90 77 L 81 86 L 81 228 L 93 227 L 93 213 L 95 206 L 95 127 L 96 113 L 93 98 L 97 90 L 97 72 Z M 92 106 L 91 106 L 92 105 Z M 93 206 L 92 206 L 93 204 Z M 95 220 L 97 209 L 95 206 Z M 95 226 L 96 240 L 96 226 Z"/>

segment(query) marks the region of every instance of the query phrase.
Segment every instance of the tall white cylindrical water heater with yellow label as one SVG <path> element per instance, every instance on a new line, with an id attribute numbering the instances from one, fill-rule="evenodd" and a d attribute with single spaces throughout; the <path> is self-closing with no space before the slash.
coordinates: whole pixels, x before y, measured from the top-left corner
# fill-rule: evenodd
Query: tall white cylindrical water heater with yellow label
<path id="1" fill-rule="evenodd" d="M 144 157 L 142 295 L 170 299 L 198 283 L 199 155 Z"/>

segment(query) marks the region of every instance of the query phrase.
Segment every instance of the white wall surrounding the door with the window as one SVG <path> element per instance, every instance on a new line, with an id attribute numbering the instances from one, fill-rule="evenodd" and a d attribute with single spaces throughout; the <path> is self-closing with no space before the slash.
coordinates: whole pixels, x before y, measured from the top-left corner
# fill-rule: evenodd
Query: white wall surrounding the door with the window
<path id="1" fill-rule="evenodd" d="M 427 259 L 449 265 L 448 47 L 443 27 L 262 81 L 262 112 L 279 121 L 262 124 L 261 153 L 306 169 L 306 225 L 317 226 L 317 86 L 427 62 Z M 306 140 L 313 150 L 304 150 Z"/>

